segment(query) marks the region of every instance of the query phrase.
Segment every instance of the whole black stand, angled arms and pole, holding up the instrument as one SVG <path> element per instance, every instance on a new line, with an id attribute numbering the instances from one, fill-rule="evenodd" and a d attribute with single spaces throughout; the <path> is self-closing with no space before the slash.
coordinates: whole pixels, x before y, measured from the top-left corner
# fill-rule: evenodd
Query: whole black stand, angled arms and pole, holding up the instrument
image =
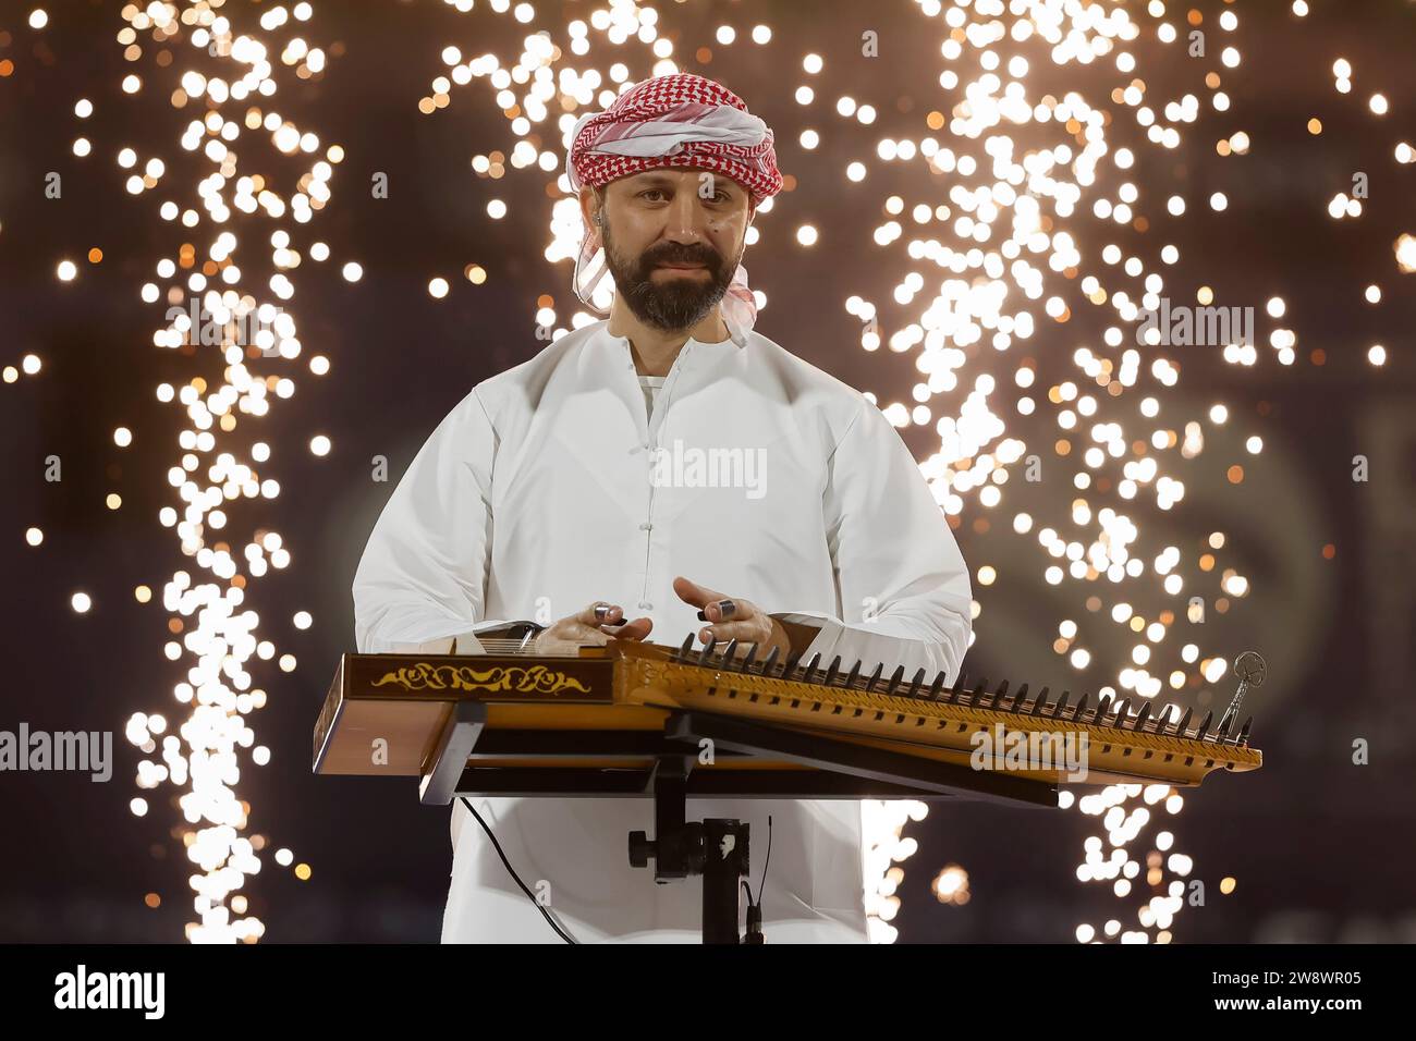
<path id="1" fill-rule="evenodd" d="M 695 711 L 671 711 L 661 734 L 646 731 L 486 729 L 487 710 L 457 701 L 419 782 L 425 804 L 460 796 L 654 799 L 654 838 L 629 834 L 634 867 L 654 861 L 654 881 L 702 877 L 702 942 L 760 943 L 738 929 L 750 834 L 739 820 L 687 820 L 691 797 L 728 799 L 973 799 L 1056 806 L 1056 785 L 973 770 L 762 722 Z M 695 770 L 701 742 L 714 756 L 792 763 L 800 769 Z M 479 766 L 469 756 L 515 758 L 544 765 Z M 556 765 L 561 759 L 582 765 Z M 643 769 L 586 766 L 585 759 L 646 759 Z M 714 854 L 718 855 L 714 855 Z M 749 916 L 750 918 L 750 916 Z"/>

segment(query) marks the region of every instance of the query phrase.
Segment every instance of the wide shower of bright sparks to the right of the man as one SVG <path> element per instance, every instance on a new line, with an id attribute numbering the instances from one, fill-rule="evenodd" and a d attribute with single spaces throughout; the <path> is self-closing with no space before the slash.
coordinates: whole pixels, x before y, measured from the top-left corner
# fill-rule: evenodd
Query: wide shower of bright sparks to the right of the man
<path id="1" fill-rule="evenodd" d="M 903 242 L 908 258 L 901 259 L 898 269 L 908 273 L 893 296 L 906 313 L 892 323 L 898 331 L 889 337 L 888 347 L 913 351 L 923 378 L 912 389 L 913 405 L 892 401 L 882 406 L 899 428 L 926 425 L 933 419 L 929 404 L 936 397 L 966 394 L 957 414 L 946 414 L 937 421 L 940 450 L 925 459 L 920 469 L 935 483 L 936 497 L 950 516 L 961 513 L 963 496 L 973 491 L 983 507 L 984 531 L 987 513 L 1004 501 L 1008 479 L 1017 479 L 1020 470 L 1025 473 L 1024 463 L 1037 459 L 1028 455 L 1032 443 L 1056 438 L 1054 472 L 1073 456 L 1073 450 L 1080 456 L 1080 465 L 1073 465 L 1072 472 L 1076 497 L 1069 520 L 1073 534 L 1062 534 L 1068 527 L 1065 521 L 1038 528 L 1038 544 L 1046 554 L 1042 575 L 1051 585 L 1072 582 L 1079 593 L 1103 581 L 1116 588 L 1110 595 L 1087 593 L 1085 608 L 1103 626 L 1109 618 L 1123 633 L 1129 630 L 1137 637 L 1130 647 L 1130 663 L 1114 674 L 1117 687 L 1131 698 L 1133 714 L 1140 701 L 1157 700 L 1165 687 L 1197 694 L 1201 700 L 1208 697 L 1204 687 L 1223 680 L 1229 661 L 1206 654 L 1201 647 L 1202 630 L 1194 626 L 1204 622 L 1206 605 L 1222 615 L 1233 601 L 1249 593 L 1249 581 L 1239 568 L 1222 565 L 1223 531 L 1197 540 L 1199 547 L 1198 552 L 1191 550 L 1192 559 L 1182 559 L 1177 545 L 1146 545 L 1146 528 L 1138 516 L 1146 493 L 1151 491 L 1154 508 L 1175 508 L 1185 491 L 1180 474 L 1188 460 L 1204 452 L 1206 428 L 1222 426 L 1231 418 L 1226 405 L 1214 404 L 1205 415 L 1161 419 L 1182 370 L 1170 351 L 1194 343 L 1222 348 L 1222 358 L 1229 365 L 1259 364 L 1252 329 L 1247 337 L 1231 330 L 1221 333 L 1218 340 L 1174 343 L 1165 337 L 1172 330 L 1157 329 L 1157 312 L 1171 307 L 1171 300 L 1164 299 L 1167 282 L 1161 272 L 1180 261 L 1180 251 L 1150 234 L 1164 227 L 1164 218 L 1155 212 L 1160 203 L 1157 178 L 1148 177 L 1144 186 L 1129 180 L 1144 149 L 1177 150 L 1182 132 L 1194 126 L 1198 133 L 1202 109 L 1218 113 L 1216 122 L 1231 119 L 1225 115 L 1231 101 L 1222 86 L 1232 75 L 1229 71 L 1242 64 L 1235 45 L 1239 17 L 1228 3 L 1201 6 L 1150 0 L 1144 4 L 1147 17 L 1133 18 L 1131 10 L 1140 7 L 1138 3 L 1070 0 L 1008 4 L 957 0 L 952 6 L 919 0 L 926 17 L 939 18 L 947 27 L 940 48 L 946 69 L 939 82 L 950 92 L 953 103 L 926 118 L 930 129 L 947 130 L 949 143 L 939 144 L 926 136 L 918 143 L 918 153 L 920 161 L 950 176 L 953 207 L 930 210 L 916 203 L 910 208 L 910 220 L 920 231 L 918 238 Z M 1307 3 L 1293 3 L 1291 13 L 1306 17 Z M 1120 74 L 1107 95 L 1110 105 L 1086 99 L 1076 91 L 1061 99 L 1029 92 L 1029 61 L 1038 59 L 1024 57 L 1028 42 L 1049 48 L 1046 57 L 1056 65 L 1110 61 Z M 1167 48 L 1180 47 L 1195 59 L 1188 65 L 1195 76 L 1202 72 L 1209 91 L 1208 105 L 1195 93 L 1180 93 L 1182 78 L 1168 78 L 1168 96 L 1157 96 L 1157 84 L 1143 78 L 1143 69 L 1158 65 Z M 1351 64 L 1338 58 L 1332 72 L 1337 89 L 1349 91 Z M 854 105 L 851 99 L 838 103 L 837 110 L 850 116 Z M 1382 93 L 1372 93 L 1368 109 L 1375 116 L 1385 116 L 1389 103 Z M 1065 135 L 1058 133 L 1063 129 Z M 1310 132 L 1321 133 L 1321 126 L 1310 126 Z M 1045 140 L 1048 136 L 1054 136 L 1051 144 Z M 915 160 L 915 150 L 912 139 L 885 137 L 877 153 L 886 163 L 898 163 Z M 1215 143 L 1221 157 L 1249 150 L 1249 135 L 1243 130 L 1223 133 Z M 1416 160 L 1405 142 L 1395 146 L 1393 154 L 1398 163 Z M 1167 164 L 1150 169 L 1167 169 Z M 865 178 L 868 173 L 862 164 L 854 176 Z M 848 169 L 847 176 L 851 177 L 852 170 Z M 1154 201 L 1143 195 L 1143 187 Z M 1345 194 L 1334 198 L 1330 215 L 1334 220 L 1359 217 L 1362 207 L 1357 194 L 1354 188 L 1354 198 Z M 920 195 L 927 198 L 925 191 Z M 1228 208 L 1223 193 L 1214 193 L 1204 203 L 1216 212 Z M 1165 210 L 1178 218 L 1188 204 L 1177 188 L 1165 200 Z M 892 195 L 884 208 L 896 217 L 905 207 L 905 200 Z M 1086 220 L 1086 210 L 1095 222 Z M 952 225 L 937 228 L 950 220 Z M 884 221 L 875 241 L 888 245 L 906 238 L 902 222 L 903 217 Z M 1395 242 L 1398 268 L 1403 272 L 1410 271 L 1413 256 L 1408 239 L 1399 237 Z M 923 296 L 920 306 L 915 299 L 925 290 L 925 278 L 910 268 L 925 266 L 925 262 L 956 278 L 946 279 L 933 296 Z M 1369 286 L 1364 296 L 1375 305 L 1381 300 L 1381 288 Z M 1044 313 L 1056 323 L 1042 334 L 1052 341 L 1065 336 L 1068 323 L 1090 305 L 1093 324 L 1104 327 L 1100 344 L 1087 343 L 1090 329 L 1075 334 L 1073 341 L 1080 346 L 1070 361 L 1080 374 L 1059 371 L 1056 363 L 1063 351 L 1042 350 L 1032 351 L 1035 357 L 1021 358 L 1011 380 L 995 380 L 987 371 L 994 365 L 986 361 L 984 343 L 997 351 L 995 364 L 1003 364 L 1008 353 L 1025 348 L 1025 341 L 1032 339 L 1029 300 L 1042 300 Z M 1223 310 L 1211 307 L 1216 295 L 1209 286 L 1201 285 L 1195 300 L 1201 307 L 1188 312 L 1197 320 L 1206 310 L 1211 314 Z M 910 305 L 915 305 L 913 313 L 908 313 Z M 867 326 L 862 347 L 878 348 L 875 305 L 852 296 L 847 307 Z M 1280 365 L 1293 365 L 1297 333 L 1277 322 L 1286 316 L 1286 302 L 1270 297 L 1263 312 L 1274 320 L 1267 337 L 1270 357 Z M 1097 320 L 1099 314 L 1104 317 Z M 1141 350 L 1127 346 L 1130 343 Z M 1321 353 L 1314 354 L 1315 364 L 1321 364 Z M 1374 344 L 1366 357 L 1369 364 L 1381 365 L 1386 353 L 1381 344 Z M 960 377 L 967 377 L 967 382 Z M 1000 384 L 1008 382 L 1021 394 L 1001 406 L 991 406 L 990 399 L 1001 397 Z M 1041 404 L 1044 395 L 1034 392 L 1042 385 L 1046 385 L 1046 405 Z M 1133 404 L 1137 395 L 1144 397 Z M 1048 405 L 1056 425 L 1051 433 L 1018 419 L 1012 426 L 1021 429 L 1012 433 L 1004 419 L 1010 414 L 1041 415 Z M 1137 419 L 1144 436 L 1129 433 Z M 1024 436 L 1022 431 L 1037 433 Z M 1257 456 L 1263 440 L 1250 435 L 1245 448 Z M 1229 484 L 1242 484 L 1242 465 L 1231 465 L 1223 473 Z M 1031 534 L 1035 524 L 1028 513 L 1014 513 L 1017 534 Z M 978 520 L 974 530 L 980 531 Z M 997 569 L 993 562 L 980 565 L 977 582 L 991 585 Z M 976 615 L 977 610 L 976 605 Z M 1090 639 L 1085 639 L 1083 625 L 1093 633 Z M 1102 626 L 1096 622 L 1083 625 L 1062 619 L 1054 643 L 1055 653 L 1066 656 L 1079 673 L 1092 666 L 1092 647 L 1117 642 L 1114 635 L 1107 637 L 1099 632 Z M 1181 636 L 1185 629 L 1188 632 Z M 1109 684 L 1097 693 L 1117 694 Z M 1180 712 L 1174 705 L 1167 708 L 1165 718 L 1174 719 Z M 1130 928 L 1113 918 L 1102 926 L 1100 935 L 1121 942 L 1170 942 L 1194 863 L 1174 848 L 1175 837 L 1170 830 L 1158 830 L 1147 838 L 1151 848 L 1144 854 L 1144 865 L 1127 847 L 1147 826 L 1163 821 L 1161 809 L 1178 814 L 1184 797 L 1165 785 L 1112 785 L 1079 800 L 1063 793 L 1061 802 L 1063 807 L 1075 802 L 1083 814 L 1102 817 L 1106 831 L 1106 843 L 1099 836 L 1086 840 L 1086 858 L 1078 867 L 1078 878 L 1110 885 L 1117 899 L 1134 899 L 1133 888 L 1138 889 L 1136 895 L 1148 894 L 1136 908 L 1136 922 Z M 1110 850 L 1106 857 L 1103 847 Z M 1131 880 L 1143 867 L 1144 878 L 1133 887 Z M 1097 935 L 1092 925 L 1078 928 L 1080 942 L 1095 940 Z"/>

